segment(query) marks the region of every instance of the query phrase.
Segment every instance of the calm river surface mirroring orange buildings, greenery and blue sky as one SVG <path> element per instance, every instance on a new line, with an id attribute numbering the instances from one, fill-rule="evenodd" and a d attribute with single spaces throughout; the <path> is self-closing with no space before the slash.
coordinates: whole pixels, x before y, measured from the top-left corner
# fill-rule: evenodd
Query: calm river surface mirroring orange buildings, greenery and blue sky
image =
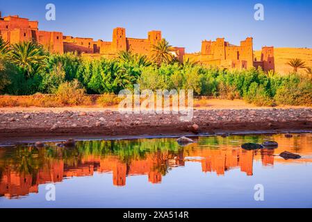
<path id="1" fill-rule="evenodd" d="M 0 207 L 312 207 L 312 135 L 0 147 Z M 245 142 L 279 148 L 245 151 Z M 302 155 L 284 160 L 279 153 Z M 56 201 L 47 201 L 47 185 Z M 254 200 L 255 185 L 264 201 Z M 48 187 L 49 188 L 49 187 Z"/>

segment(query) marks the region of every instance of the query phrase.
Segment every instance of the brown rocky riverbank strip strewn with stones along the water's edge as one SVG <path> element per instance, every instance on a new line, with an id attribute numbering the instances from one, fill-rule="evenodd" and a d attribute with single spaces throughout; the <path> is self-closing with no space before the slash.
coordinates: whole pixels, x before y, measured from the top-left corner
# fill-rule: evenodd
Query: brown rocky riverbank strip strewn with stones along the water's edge
<path id="1" fill-rule="evenodd" d="M 92 112 L 0 112 L 0 139 L 38 136 L 183 135 L 250 130 L 312 130 L 312 109 L 195 110 L 179 114 Z"/>

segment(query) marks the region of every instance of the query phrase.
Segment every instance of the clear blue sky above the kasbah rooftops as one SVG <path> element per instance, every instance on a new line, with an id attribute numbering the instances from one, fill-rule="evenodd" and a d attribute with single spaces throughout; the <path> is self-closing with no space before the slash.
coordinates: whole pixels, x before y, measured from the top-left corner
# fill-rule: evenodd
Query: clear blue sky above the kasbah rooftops
<path id="1" fill-rule="evenodd" d="M 45 6 L 54 3 L 56 21 L 45 19 Z M 265 20 L 254 19 L 254 5 L 262 3 Z M 187 52 L 200 51 L 202 40 L 225 37 L 239 44 L 254 37 L 261 46 L 312 48 L 312 1 L 289 0 L 0 0 L 3 16 L 19 15 L 39 21 L 40 30 L 110 41 L 113 28 L 126 28 L 127 37 L 147 38 L 151 30 Z"/>

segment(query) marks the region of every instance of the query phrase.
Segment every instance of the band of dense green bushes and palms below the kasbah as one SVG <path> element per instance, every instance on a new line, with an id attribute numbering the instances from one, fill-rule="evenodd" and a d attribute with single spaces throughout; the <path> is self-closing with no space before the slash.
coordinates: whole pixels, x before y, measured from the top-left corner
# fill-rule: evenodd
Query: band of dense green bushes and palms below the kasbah
<path id="1" fill-rule="evenodd" d="M 118 58 L 90 59 L 75 53 L 49 54 L 32 42 L 9 48 L 0 38 L 0 92 L 28 95 L 62 93 L 118 94 L 121 89 L 194 89 L 195 95 L 245 99 L 256 105 L 312 105 L 312 81 L 307 76 L 268 73 L 261 69 L 233 70 L 177 62 L 171 46 L 154 46 L 147 56 L 122 51 Z M 293 61 L 300 68 L 300 61 Z M 299 66 L 298 66 L 299 65 Z"/>

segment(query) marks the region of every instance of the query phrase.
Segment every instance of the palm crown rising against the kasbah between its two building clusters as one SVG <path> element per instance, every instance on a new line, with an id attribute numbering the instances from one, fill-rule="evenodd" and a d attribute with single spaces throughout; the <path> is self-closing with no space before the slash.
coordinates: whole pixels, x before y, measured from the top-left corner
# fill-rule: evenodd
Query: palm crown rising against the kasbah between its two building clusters
<path id="1" fill-rule="evenodd" d="M 174 59 L 173 52 L 174 49 L 165 39 L 151 46 L 151 58 L 158 66 L 162 63 L 170 64 Z"/>

